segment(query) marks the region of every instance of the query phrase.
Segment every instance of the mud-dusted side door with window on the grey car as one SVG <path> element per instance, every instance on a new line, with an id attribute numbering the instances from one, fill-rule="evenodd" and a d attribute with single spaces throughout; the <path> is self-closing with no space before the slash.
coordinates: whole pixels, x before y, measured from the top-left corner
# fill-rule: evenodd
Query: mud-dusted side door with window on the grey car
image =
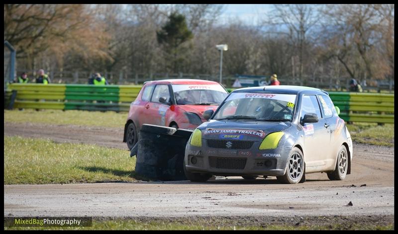
<path id="1" fill-rule="evenodd" d="M 318 122 L 301 124 L 304 138 L 305 169 L 306 172 L 321 171 L 325 166 L 325 154 L 329 151 L 330 134 L 316 95 L 302 95 L 300 120 L 307 113 L 316 114 Z"/>

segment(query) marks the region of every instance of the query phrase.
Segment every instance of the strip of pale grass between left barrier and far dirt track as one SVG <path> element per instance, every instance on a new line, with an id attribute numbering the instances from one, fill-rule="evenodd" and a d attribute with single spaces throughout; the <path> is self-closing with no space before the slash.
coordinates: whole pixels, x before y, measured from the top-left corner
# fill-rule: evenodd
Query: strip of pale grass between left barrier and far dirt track
<path id="1" fill-rule="evenodd" d="M 4 110 L 4 122 L 124 127 L 127 112 L 84 110 Z"/>

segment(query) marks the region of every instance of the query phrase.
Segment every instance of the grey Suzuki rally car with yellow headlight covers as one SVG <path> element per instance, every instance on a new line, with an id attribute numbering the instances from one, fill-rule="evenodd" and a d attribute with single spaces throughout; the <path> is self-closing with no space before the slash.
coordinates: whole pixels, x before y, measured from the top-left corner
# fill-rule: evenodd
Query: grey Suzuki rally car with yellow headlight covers
<path id="1" fill-rule="evenodd" d="M 215 112 L 206 111 L 186 146 L 191 181 L 212 175 L 276 176 L 282 183 L 326 172 L 342 180 L 351 171 L 352 140 L 326 91 L 302 86 L 240 88 Z"/>

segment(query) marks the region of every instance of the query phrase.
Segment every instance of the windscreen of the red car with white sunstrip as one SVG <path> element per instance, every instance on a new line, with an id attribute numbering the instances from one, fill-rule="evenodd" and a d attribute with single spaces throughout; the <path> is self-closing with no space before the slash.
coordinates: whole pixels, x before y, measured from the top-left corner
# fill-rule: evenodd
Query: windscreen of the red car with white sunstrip
<path id="1" fill-rule="evenodd" d="M 218 105 L 228 95 L 225 89 L 219 84 L 173 84 L 172 86 L 176 102 L 179 105 Z"/>

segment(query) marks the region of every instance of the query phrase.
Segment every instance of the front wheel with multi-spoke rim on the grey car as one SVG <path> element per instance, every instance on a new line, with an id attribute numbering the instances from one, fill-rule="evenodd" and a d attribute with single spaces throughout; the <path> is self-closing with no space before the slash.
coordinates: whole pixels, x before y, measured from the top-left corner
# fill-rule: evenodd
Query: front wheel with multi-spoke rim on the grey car
<path id="1" fill-rule="evenodd" d="M 284 184 L 297 184 L 302 181 L 304 175 L 304 157 L 301 151 L 294 147 L 289 154 L 286 173 L 283 176 L 277 176 L 279 182 Z"/>

